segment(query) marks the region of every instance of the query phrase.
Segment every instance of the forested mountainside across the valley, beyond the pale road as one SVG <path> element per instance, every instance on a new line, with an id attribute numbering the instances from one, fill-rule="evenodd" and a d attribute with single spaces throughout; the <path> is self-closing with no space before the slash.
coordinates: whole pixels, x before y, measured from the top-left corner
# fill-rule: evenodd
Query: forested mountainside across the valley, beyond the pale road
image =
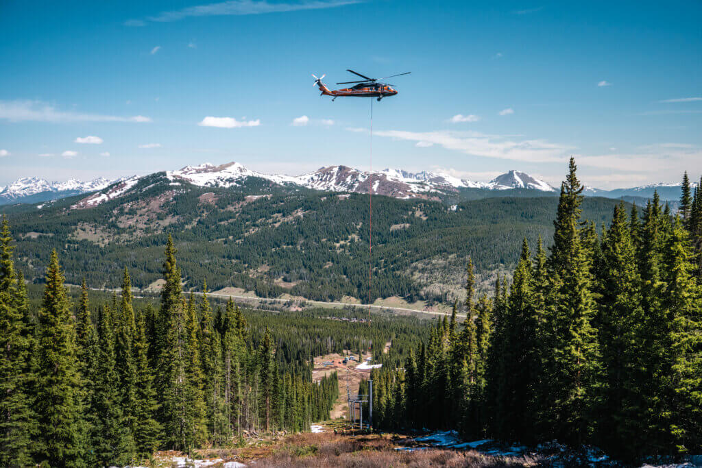
<path id="1" fill-rule="evenodd" d="M 510 191 L 512 192 L 512 191 Z M 534 192 L 534 191 L 529 191 Z M 242 187 L 173 187 L 163 175 L 91 208 L 79 197 L 37 209 L 2 207 L 22 242 L 17 268 L 43 281 L 55 249 L 68 283 L 117 288 L 128 267 L 135 288 L 161 278 L 167 233 L 179 251 L 185 288 L 236 286 L 262 297 L 290 293 L 313 300 L 368 301 L 368 200 L 249 183 Z M 557 197 L 456 201 L 374 199 L 371 297 L 453 302 L 470 256 L 486 274 L 515 265 L 519 241 L 552 234 Z M 586 199 L 588 219 L 604 223 L 617 201 Z"/>

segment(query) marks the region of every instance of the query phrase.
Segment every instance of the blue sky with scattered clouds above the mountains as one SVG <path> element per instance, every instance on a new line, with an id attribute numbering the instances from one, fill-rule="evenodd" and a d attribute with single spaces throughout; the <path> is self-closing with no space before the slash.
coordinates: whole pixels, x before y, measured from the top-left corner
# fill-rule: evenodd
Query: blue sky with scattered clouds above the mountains
<path id="1" fill-rule="evenodd" d="M 1 1 L 0 185 L 368 168 L 371 101 L 312 88 L 347 68 L 412 72 L 373 102 L 373 168 L 558 185 L 572 154 L 595 187 L 699 178 L 699 18 L 699 1 Z"/>

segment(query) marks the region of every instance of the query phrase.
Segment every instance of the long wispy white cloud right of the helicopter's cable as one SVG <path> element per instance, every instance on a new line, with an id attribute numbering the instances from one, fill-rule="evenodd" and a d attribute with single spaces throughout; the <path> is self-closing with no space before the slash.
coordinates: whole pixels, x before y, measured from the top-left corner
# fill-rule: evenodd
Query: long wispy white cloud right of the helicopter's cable
<path id="1" fill-rule="evenodd" d="M 376 135 L 439 145 L 445 149 L 483 156 L 486 158 L 511 159 L 529 162 L 561 162 L 567 160 L 566 150 L 571 147 L 546 140 L 511 141 L 499 135 L 484 135 L 478 132 L 453 131 L 378 131 Z"/>

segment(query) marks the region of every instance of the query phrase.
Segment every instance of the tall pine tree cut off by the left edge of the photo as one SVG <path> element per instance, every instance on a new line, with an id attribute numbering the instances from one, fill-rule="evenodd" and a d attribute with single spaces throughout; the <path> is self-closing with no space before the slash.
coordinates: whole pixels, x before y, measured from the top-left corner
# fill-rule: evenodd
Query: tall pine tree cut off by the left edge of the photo
<path id="1" fill-rule="evenodd" d="M 32 368 L 21 302 L 26 301 L 24 279 L 18 279 L 13 262 L 10 228 L 3 216 L 0 231 L 0 465 L 32 464 L 32 439 L 37 435 L 37 420 L 29 393 Z"/>

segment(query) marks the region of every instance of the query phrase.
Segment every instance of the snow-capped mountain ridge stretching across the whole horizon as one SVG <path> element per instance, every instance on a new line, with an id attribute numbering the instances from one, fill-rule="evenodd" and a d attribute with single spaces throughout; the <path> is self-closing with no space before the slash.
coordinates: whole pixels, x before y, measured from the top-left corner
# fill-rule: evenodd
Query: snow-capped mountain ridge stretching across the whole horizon
<path id="1" fill-rule="evenodd" d="M 498 175 L 490 182 L 479 182 L 457 178 L 442 172 L 418 171 L 411 172 L 398 168 L 385 168 L 382 171 L 362 171 L 350 166 L 322 166 L 316 171 L 302 175 L 267 174 L 253 171 L 241 163 L 230 162 L 216 166 L 212 163 L 202 163 L 197 166 L 185 166 L 174 171 L 160 171 L 144 176 L 108 180 L 96 178 L 87 182 L 77 179 L 66 182 L 48 182 L 42 178 L 20 178 L 3 189 L 0 189 L 0 205 L 8 203 L 39 203 L 62 199 L 77 194 L 100 192 L 104 196 L 90 196 L 81 207 L 94 206 L 116 196 L 121 196 L 134 185 L 137 180 L 164 174 L 170 185 L 188 183 L 198 187 L 241 187 L 248 178 L 256 178 L 269 184 L 282 187 L 304 187 L 307 189 L 326 192 L 368 193 L 372 188 L 373 194 L 392 196 L 398 199 L 439 199 L 444 196 L 460 195 L 463 190 L 478 189 L 485 191 L 505 191 L 524 189 L 527 191 L 543 192 L 548 195 L 557 194 L 557 189 L 543 180 L 524 173 L 510 170 Z M 124 189 L 124 183 L 129 187 Z M 113 187 L 114 186 L 114 187 Z M 693 187 L 696 186 L 693 184 Z M 625 189 L 597 189 L 585 187 L 586 196 L 604 196 L 605 198 L 621 198 L 637 196 L 650 198 L 654 190 L 663 200 L 677 200 L 680 196 L 680 184 L 656 183 Z M 506 193 L 506 192 L 505 192 Z"/>

